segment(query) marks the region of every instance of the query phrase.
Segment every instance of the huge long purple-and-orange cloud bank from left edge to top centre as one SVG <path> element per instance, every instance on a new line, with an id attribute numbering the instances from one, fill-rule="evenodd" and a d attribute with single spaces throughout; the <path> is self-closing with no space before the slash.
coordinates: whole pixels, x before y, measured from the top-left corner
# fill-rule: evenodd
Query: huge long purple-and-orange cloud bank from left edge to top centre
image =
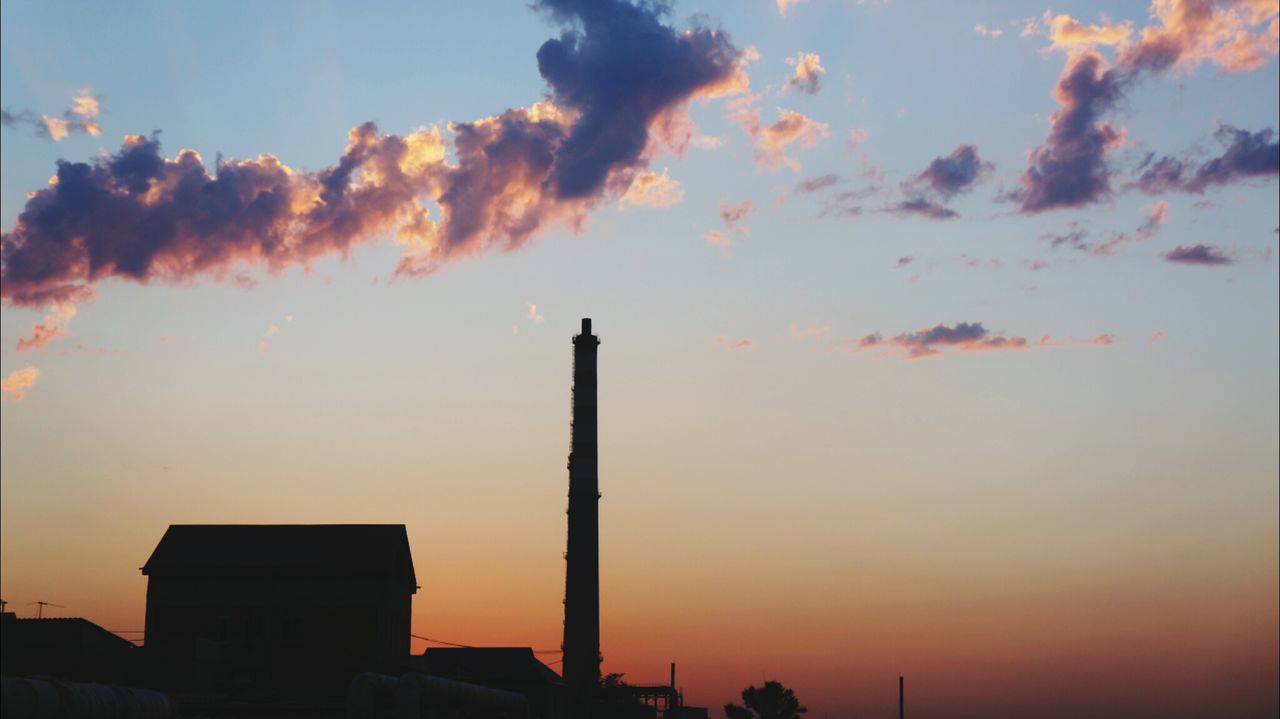
<path id="1" fill-rule="evenodd" d="M 397 276 L 515 251 L 549 225 L 580 229 L 594 205 L 623 196 L 657 148 L 687 130 L 690 102 L 746 88 L 748 52 L 719 31 L 664 24 L 660 4 L 536 8 L 566 28 L 538 51 L 552 100 L 449 123 L 448 137 L 381 134 L 366 123 L 319 171 L 260 155 L 210 173 L 193 151 L 164 157 L 157 136 L 131 136 L 92 162 L 59 162 L 0 239 L 0 297 L 44 306 L 106 278 L 279 273 L 389 233 L 403 246 Z"/>

